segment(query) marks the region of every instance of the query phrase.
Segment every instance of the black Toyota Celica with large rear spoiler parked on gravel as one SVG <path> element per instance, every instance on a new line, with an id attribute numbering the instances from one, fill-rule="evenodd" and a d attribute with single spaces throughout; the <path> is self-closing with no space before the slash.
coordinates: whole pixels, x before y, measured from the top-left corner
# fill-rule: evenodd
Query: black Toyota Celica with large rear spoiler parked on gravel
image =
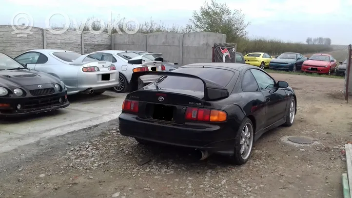
<path id="1" fill-rule="evenodd" d="M 142 75 L 162 76 L 139 88 Z M 139 89 L 138 89 L 139 88 Z M 135 72 L 118 117 L 124 136 L 216 153 L 245 163 L 253 142 L 291 126 L 296 95 L 285 81 L 239 63 L 195 63 L 172 72 Z"/>

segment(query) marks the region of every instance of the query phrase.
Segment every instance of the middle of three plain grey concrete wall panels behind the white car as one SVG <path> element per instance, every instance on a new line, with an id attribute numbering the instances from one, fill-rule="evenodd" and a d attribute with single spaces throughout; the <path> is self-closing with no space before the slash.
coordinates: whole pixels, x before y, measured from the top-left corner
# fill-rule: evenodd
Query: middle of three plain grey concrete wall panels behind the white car
<path id="1" fill-rule="evenodd" d="M 169 62 L 180 63 L 182 59 L 182 34 L 156 32 L 147 34 L 147 51 L 159 52 Z"/>

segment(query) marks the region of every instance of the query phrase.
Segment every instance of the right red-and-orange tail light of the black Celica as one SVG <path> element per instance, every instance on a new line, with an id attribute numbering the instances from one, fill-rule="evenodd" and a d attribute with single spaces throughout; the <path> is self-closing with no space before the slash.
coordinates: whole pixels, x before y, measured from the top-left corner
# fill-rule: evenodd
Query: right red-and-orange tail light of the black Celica
<path id="1" fill-rule="evenodd" d="M 227 120 L 227 113 L 221 110 L 187 107 L 185 119 L 194 121 L 222 122 Z"/>

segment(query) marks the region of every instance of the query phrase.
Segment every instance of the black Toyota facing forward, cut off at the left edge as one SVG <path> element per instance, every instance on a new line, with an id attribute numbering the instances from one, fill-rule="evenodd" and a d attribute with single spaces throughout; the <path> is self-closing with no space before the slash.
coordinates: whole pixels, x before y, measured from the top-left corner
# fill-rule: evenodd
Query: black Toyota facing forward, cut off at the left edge
<path id="1" fill-rule="evenodd" d="M 29 70 L 0 53 L 0 117 L 36 114 L 69 105 L 63 81 Z"/>

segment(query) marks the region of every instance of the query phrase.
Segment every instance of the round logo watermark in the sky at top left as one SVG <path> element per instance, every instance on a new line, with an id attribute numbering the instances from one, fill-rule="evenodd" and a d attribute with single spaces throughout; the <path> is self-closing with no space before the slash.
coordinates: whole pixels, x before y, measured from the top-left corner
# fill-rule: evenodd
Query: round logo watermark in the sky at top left
<path id="1" fill-rule="evenodd" d="M 21 19 L 24 19 L 25 22 L 19 25 L 19 21 Z M 12 21 L 11 21 L 11 26 L 12 26 L 12 29 L 14 30 L 13 32 L 11 32 L 11 34 L 17 34 L 17 37 L 27 37 L 28 34 L 32 35 L 33 32 L 31 32 L 31 29 L 33 28 L 33 23 L 34 22 L 31 15 L 28 15 L 23 12 L 17 13 L 12 18 Z M 16 24 L 16 27 L 15 27 L 15 24 Z"/>

